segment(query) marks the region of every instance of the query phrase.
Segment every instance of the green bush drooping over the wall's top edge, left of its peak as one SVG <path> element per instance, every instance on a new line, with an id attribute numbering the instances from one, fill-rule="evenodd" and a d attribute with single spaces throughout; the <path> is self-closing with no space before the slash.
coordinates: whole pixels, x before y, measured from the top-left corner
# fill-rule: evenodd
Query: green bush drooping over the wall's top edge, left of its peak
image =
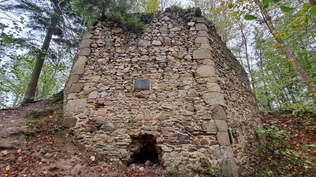
<path id="1" fill-rule="evenodd" d="M 148 27 L 139 20 L 136 15 L 122 15 L 120 13 L 109 13 L 106 17 L 114 23 L 120 23 L 123 28 L 131 31 L 140 31 Z"/>

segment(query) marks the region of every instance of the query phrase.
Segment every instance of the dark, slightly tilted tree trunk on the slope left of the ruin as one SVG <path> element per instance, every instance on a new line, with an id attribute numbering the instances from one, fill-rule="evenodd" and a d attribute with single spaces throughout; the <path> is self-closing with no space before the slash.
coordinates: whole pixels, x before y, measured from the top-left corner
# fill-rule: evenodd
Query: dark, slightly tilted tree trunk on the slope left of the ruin
<path id="1" fill-rule="evenodd" d="M 27 86 L 27 90 L 26 90 L 25 98 L 24 98 L 25 101 L 33 101 L 35 98 L 37 83 L 40 78 L 40 72 L 42 71 L 44 60 L 45 60 L 49 45 L 51 43 L 52 36 L 55 34 L 57 23 L 60 20 L 60 15 L 61 15 L 60 9 L 58 7 L 55 7 L 55 11 L 56 11 L 54 14 L 55 16 L 51 18 L 52 22 L 51 22 L 51 25 L 48 27 L 48 31 L 46 33 L 46 37 L 44 39 L 44 42 L 41 48 L 42 51 L 36 57 L 37 62 L 34 66 L 34 69 L 30 78 L 30 82 Z"/>

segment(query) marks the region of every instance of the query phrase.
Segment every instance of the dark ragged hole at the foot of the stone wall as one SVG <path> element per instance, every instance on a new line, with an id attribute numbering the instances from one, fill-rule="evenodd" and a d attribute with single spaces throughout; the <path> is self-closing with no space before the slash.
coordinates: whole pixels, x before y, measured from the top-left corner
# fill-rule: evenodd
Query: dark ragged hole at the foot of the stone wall
<path id="1" fill-rule="evenodd" d="M 142 134 L 138 137 L 131 137 L 130 164 L 145 164 L 146 166 L 157 166 L 159 164 L 160 147 L 156 144 L 156 138 L 151 134 Z M 149 162 L 150 161 L 150 162 Z"/>

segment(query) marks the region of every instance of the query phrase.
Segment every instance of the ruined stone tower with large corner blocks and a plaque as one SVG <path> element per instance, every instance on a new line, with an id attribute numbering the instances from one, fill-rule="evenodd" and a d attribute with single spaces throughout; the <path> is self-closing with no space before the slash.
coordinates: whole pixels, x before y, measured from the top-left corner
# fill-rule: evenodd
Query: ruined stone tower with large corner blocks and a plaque
<path id="1" fill-rule="evenodd" d="M 228 176 L 253 174 L 260 117 L 240 63 L 204 17 L 174 7 L 147 20 L 139 33 L 103 20 L 84 34 L 64 126 L 122 165 L 156 158 L 191 172 L 204 158 Z"/>

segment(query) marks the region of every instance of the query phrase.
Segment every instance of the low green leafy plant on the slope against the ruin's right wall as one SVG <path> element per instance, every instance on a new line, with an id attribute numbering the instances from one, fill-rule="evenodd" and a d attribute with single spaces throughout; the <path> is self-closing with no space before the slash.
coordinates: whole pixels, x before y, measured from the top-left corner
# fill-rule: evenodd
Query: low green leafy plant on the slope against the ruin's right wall
<path id="1" fill-rule="evenodd" d="M 277 122 L 271 123 L 273 124 Z M 259 136 L 266 139 L 267 146 L 271 150 L 286 146 L 285 141 L 292 137 L 291 135 L 287 134 L 286 130 L 281 130 L 276 126 L 269 125 L 267 123 L 263 124 L 263 128 L 256 128 L 255 130 Z"/>

